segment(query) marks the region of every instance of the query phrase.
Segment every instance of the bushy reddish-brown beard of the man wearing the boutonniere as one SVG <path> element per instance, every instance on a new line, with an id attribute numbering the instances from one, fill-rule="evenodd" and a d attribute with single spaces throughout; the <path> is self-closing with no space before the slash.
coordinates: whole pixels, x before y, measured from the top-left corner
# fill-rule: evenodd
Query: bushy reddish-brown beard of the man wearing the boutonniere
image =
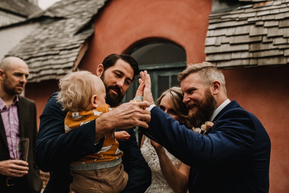
<path id="1" fill-rule="evenodd" d="M 196 104 L 194 110 L 189 110 L 188 119 L 194 128 L 200 128 L 204 122 L 209 121 L 216 109 L 216 99 L 211 94 L 210 89 L 206 89 L 203 100 L 199 103 L 188 103 L 187 106 Z"/>

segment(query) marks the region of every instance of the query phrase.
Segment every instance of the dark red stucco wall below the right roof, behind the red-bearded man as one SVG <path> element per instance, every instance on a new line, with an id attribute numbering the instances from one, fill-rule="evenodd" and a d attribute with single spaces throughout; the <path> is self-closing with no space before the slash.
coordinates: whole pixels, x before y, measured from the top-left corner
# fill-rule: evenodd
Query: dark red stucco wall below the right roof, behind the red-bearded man
<path id="1" fill-rule="evenodd" d="M 269 192 L 289 189 L 289 66 L 224 70 L 228 97 L 252 112 L 271 139 Z"/>

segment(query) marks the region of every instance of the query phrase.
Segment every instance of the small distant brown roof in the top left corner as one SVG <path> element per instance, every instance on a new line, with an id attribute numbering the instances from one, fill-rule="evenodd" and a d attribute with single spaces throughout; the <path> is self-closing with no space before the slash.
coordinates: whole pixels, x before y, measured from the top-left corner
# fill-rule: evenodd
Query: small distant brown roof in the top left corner
<path id="1" fill-rule="evenodd" d="M 38 5 L 30 3 L 28 0 L 1 0 L 0 8 L 25 17 L 42 10 Z"/>

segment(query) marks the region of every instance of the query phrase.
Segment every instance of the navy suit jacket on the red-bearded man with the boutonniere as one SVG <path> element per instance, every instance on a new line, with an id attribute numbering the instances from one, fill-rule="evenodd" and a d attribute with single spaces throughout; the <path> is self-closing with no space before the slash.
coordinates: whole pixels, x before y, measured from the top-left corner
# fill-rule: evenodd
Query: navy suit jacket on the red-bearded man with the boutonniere
<path id="1" fill-rule="evenodd" d="M 139 130 L 191 166 L 189 192 L 268 192 L 271 142 L 263 125 L 235 100 L 214 121 L 203 136 L 154 107 L 149 128 Z"/>

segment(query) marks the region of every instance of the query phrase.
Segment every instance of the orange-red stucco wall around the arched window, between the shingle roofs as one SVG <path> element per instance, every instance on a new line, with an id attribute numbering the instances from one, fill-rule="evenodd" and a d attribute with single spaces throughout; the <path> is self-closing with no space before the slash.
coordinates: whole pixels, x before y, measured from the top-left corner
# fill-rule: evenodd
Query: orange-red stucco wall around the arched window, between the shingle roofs
<path id="1" fill-rule="evenodd" d="M 110 1 L 95 20 L 95 35 L 79 67 L 95 72 L 111 53 L 128 52 L 149 40 L 168 40 L 182 46 L 188 62 L 205 60 L 211 0 Z"/>

